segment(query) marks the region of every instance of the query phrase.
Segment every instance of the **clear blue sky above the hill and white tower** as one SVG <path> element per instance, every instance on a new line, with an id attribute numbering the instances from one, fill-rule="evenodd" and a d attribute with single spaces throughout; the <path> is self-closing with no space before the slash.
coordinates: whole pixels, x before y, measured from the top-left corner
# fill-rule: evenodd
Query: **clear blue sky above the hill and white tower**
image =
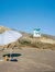
<path id="1" fill-rule="evenodd" d="M 55 0 L 0 0 L 0 25 L 55 36 Z"/>

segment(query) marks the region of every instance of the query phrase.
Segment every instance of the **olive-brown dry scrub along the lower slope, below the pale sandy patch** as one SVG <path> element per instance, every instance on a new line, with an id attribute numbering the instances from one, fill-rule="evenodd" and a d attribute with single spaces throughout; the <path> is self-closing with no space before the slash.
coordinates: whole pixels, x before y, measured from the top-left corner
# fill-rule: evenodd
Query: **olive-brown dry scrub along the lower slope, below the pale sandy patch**
<path id="1" fill-rule="evenodd" d="M 9 44 L 6 46 L 7 48 L 18 49 L 18 48 L 38 48 L 38 49 L 55 49 L 55 44 L 42 43 L 38 39 L 30 38 L 30 37 L 21 37 L 19 40 Z M 4 48 L 4 47 L 3 47 Z"/>

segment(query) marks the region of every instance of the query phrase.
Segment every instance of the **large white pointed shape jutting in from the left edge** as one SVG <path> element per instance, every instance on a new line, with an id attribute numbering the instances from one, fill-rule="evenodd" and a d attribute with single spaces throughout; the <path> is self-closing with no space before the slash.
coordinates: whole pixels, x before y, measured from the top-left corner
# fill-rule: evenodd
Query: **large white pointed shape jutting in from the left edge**
<path id="1" fill-rule="evenodd" d="M 13 43 L 21 36 L 22 35 L 16 31 L 6 31 L 4 33 L 0 34 L 0 45 Z"/>

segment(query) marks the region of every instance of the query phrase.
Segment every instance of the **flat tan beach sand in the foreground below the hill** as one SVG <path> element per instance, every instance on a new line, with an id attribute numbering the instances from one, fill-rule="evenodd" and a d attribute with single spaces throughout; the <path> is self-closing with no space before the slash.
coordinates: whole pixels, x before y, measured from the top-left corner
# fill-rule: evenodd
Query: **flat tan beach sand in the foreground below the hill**
<path id="1" fill-rule="evenodd" d="M 55 72 L 55 50 L 22 48 L 13 52 L 21 53 L 18 62 L 0 62 L 0 72 Z M 0 52 L 0 59 L 4 60 L 1 57 L 4 53 L 7 51 Z"/>

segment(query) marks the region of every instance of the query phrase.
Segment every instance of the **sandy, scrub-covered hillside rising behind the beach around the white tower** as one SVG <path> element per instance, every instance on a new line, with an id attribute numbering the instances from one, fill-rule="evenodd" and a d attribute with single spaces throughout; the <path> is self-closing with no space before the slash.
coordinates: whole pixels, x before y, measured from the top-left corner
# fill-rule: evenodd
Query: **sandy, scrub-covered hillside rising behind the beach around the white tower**
<path id="1" fill-rule="evenodd" d="M 3 33 L 4 31 L 11 31 L 11 28 L 0 26 L 0 33 Z M 12 29 L 16 31 L 16 29 Z M 19 32 L 19 31 L 18 31 Z M 55 49 L 55 36 L 42 34 L 41 38 L 34 38 L 33 34 L 28 34 L 24 32 L 20 32 L 22 34 L 22 37 L 18 39 L 16 41 L 9 44 L 7 46 L 2 46 L 3 48 L 51 48 Z"/>

